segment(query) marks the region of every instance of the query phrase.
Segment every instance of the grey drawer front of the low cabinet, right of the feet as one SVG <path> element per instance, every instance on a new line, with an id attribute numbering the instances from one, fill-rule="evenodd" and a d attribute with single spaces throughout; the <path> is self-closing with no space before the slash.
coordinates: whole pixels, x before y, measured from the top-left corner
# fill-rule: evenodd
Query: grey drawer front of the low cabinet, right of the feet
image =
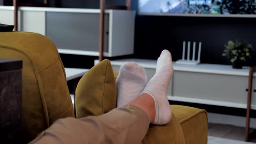
<path id="1" fill-rule="evenodd" d="M 247 76 L 174 71 L 173 95 L 246 104 Z"/>

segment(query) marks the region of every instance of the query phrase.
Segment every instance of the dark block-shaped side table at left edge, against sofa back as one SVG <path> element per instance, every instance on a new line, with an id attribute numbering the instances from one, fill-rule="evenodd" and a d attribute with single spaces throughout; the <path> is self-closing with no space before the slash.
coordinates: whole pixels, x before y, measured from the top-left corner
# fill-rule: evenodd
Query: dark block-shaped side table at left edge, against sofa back
<path id="1" fill-rule="evenodd" d="M 0 139 L 21 141 L 22 61 L 0 58 Z"/>

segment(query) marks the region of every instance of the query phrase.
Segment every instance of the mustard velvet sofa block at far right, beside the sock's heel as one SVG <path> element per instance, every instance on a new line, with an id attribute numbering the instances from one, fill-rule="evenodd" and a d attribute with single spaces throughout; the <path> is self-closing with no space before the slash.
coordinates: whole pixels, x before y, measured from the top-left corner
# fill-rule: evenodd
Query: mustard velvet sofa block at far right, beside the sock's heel
<path id="1" fill-rule="evenodd" d="M 181 124 L 186 144 L 207 144 L 208 117 L 205 110 L 171 105 L 173 114 Z"/>

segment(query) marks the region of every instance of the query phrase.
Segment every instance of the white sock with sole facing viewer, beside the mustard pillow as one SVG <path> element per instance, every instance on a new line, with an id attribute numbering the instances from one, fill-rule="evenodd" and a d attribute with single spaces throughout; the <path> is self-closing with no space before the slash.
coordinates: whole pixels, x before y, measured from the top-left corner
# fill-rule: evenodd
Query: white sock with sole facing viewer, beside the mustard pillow
<path id="1" fill-rule="evenodd" d="M 145 69 L 136 62 L 125 62 L 121 65 L 116 79 L 117 108 L 127 105 L 137 98 L 147 82 Z"/>

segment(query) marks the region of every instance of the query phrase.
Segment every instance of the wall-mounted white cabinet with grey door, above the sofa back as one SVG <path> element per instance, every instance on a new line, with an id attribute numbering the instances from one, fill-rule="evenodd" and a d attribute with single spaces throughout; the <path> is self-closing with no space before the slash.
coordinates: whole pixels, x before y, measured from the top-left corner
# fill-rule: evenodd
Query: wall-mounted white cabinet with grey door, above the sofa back
<path id="1" fill-rule="evenodd" d="M 0 6 L 0 23 L 13 25 L 14 7 Z M 59 53 L 98 56 L 99 9 L 19 7 L 18 30 L 49 37 Z M 134 52 L 135 13 L 105 10 L 104 56 Z"/>

